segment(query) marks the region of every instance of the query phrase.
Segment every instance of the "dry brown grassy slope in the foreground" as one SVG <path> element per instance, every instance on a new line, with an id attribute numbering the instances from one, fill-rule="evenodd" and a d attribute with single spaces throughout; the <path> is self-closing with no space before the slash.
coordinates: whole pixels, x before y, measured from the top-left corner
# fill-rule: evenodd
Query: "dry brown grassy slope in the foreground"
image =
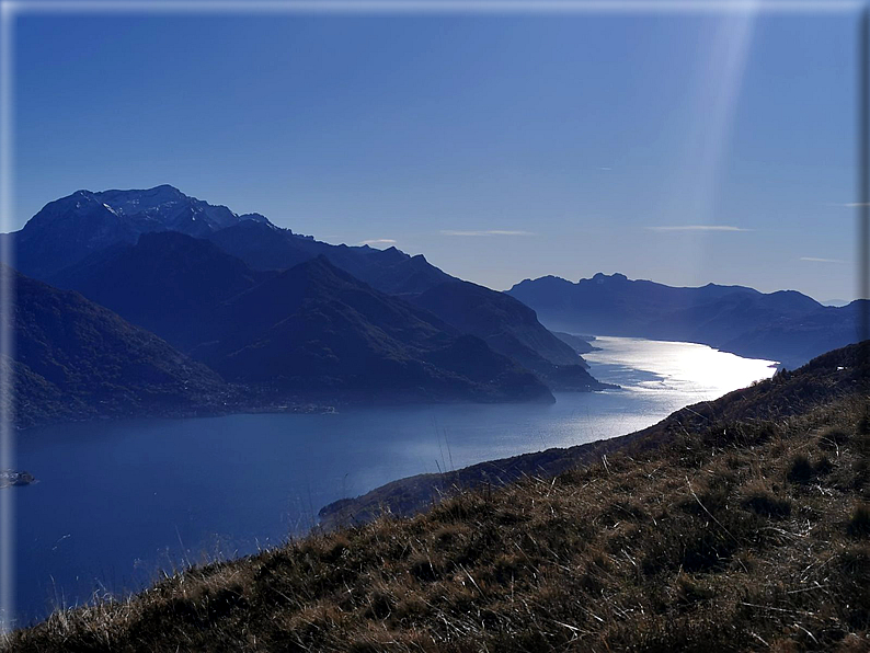
<path id="1" fill-rule="evenodd" d="M 680 411 L 606 463 L 192 569 L 8 648 L 865 651 L 868 353 Z"/>

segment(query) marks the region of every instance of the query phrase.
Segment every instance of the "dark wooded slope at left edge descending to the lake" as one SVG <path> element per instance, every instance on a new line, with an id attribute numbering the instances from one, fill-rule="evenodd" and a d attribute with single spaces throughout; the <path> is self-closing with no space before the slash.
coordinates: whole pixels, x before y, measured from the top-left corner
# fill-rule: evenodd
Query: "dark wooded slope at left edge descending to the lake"
<path id="1" fill-rule="evenodd" d="M 222 405 L 222 379 L 78 293 L 3 266 L 16 294 L 12 332 L 19 426 L 98 416 L 190 414 Z"/>

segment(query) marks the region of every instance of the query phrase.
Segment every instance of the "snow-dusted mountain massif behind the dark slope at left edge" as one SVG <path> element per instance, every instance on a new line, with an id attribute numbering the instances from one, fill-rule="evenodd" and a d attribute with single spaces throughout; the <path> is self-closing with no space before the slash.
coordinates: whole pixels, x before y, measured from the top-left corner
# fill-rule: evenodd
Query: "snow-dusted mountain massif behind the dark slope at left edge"
<path id="1" fill-rule="evenodd" d="M 205 363 L 237 403 L 245 386 L 387 401 L 552 401 L 550 388 L 607 387 L 507 295 L 423 256 L 319 242 L 172 186 L 79 191 L 3 238 L 23 273 Z"/>

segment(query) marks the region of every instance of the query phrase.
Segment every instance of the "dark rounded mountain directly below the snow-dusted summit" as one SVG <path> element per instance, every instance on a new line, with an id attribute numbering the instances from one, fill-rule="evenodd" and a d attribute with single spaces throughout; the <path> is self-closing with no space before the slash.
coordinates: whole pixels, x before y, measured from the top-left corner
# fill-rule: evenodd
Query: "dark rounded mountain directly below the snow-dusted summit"
<path id="1" fill-rule="evenodd" d="M 216 336 L 220 303 L 270 276 L 207 240 L 162 231 L 95 252 L 48 282 L 188 351 Z"/>

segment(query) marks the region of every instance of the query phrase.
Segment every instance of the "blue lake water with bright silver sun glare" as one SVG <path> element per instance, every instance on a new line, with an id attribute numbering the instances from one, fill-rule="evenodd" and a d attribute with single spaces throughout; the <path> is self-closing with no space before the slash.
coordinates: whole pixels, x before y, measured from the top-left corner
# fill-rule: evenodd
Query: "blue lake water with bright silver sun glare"
<path id="1" fill-rule="evenodd" d="M 600 337 L 593 376 L 620 390 L 551 405 L 425 405 L 51 426 L 18 437 L 19 622 L 160 569 L 256 551 L 323 505 L 421 472 L 622 435 L 767 378 L 770 362 L 703 345 Z"/>

